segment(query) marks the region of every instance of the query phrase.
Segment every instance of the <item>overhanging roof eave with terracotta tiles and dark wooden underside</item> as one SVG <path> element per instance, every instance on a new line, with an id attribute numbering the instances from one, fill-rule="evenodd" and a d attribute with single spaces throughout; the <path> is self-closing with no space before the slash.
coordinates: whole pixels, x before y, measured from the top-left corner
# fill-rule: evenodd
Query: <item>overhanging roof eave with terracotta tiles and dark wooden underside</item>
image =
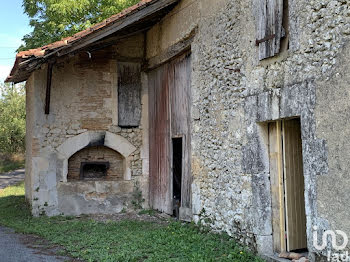
<path id="1" fill-rule="evenodd" d="M 72 37 L 62 39 L 38 49 L 20 52 L 17 54 L 15 64 L 5 82 L 19 83 L 26 81 L 33 71 L 53 57 L 62 57 L 77 52 L 96 41 L 131 27 L 133 24 L 147 19 L 147 17 L 156 15 L 164 11 L 164 9 L 172 8 L 179 1 L 180 0 L 143 0 L 139 4 L 129 7 L 121 13 L 79 32 Z M 30 62 L 30 67 L 27 62 Z"/>

